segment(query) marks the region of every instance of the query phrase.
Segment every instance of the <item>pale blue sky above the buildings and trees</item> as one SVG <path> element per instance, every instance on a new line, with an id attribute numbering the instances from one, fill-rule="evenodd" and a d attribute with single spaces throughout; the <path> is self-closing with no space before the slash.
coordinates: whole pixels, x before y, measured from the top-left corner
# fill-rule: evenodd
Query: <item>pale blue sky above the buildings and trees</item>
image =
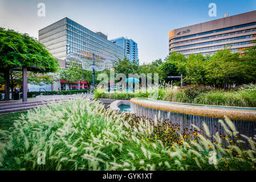
<path id="1" fill-rule="evenodd" d="M 37 15 L 38 3 L 46 5 L 46 16 Z M 216 3 L 217 16 L 208 15 Z M 120 36 L 138 43 L 140 64 L 168 55 L 170 30 L 256 10 L 255 0 L 0 0 L 0 27 L 26 32 L 38 38 L 38 30 L 68 17 L 108 39 Z"/>

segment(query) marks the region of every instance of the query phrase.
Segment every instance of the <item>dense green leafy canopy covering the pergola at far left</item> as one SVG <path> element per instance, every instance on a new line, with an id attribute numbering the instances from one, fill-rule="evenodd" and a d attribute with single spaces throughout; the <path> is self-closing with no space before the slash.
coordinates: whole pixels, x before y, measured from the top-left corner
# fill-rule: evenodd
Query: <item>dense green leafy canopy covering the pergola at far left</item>
<path id="1" fill-rule="evenodd" d="M 59 67 L 58 61 L 38 40 L 27 34 L 19 34 L 14 30 L 5 30 L 1 27 L 0 63 L 0 70 L 5 73 L 5 81 L 8 83 L 7 87 L 9 87 L 9 75 L 12 68 L 34 67 L 37 68 L 37 72 L 48 73 L 56 72 Z"/>

